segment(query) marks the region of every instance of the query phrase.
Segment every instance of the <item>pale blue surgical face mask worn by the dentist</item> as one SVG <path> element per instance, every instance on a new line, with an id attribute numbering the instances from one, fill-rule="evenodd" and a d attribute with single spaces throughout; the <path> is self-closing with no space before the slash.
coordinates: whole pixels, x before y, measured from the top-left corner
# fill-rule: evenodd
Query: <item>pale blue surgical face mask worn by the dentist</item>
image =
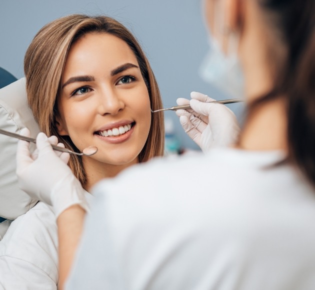
<path id="1" fill-rule="evenodd" d="M 221 15 L 220 13 L 222 13 L 222 10 L 215 13 L 215 27 L 223 31 L 223 16 L 218 16 Z M 237 56 L 238 37 L 232 32 L 228 34 L 228 37 L 226 54 L 224 54 L 220 43 L 214 37 L 209 39 L 210 50 L 200 65 L 199 74 L 204 81 L 224 94 L 233 98 L 243 98 L 244 77 Z"/>

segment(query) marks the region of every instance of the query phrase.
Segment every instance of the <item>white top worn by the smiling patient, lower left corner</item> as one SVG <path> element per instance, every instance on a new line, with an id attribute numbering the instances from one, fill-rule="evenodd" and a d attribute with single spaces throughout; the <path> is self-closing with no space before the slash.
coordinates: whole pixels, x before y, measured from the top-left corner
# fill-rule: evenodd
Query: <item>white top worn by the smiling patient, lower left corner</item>
<path id="1" fill-rule="evenodd" d="M 92 196 L 86 192 L 87 201 Z M 10 224 L 0 241 L 0 289 L 56 290 L 58 235 L 52 207 L 38 202 Z"/>

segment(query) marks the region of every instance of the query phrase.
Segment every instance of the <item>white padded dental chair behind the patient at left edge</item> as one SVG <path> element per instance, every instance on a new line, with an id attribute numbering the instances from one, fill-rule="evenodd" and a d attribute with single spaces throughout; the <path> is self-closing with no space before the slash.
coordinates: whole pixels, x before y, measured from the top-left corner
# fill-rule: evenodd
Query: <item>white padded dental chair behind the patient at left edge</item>
<path id="1" fill-rule="evenodd" d="M 7 83 L 12 78 L 0 78 L 0 80 L 1 84 Z M 27 105 L 25 78 L 21 78 L 0 88 L 0 128 L 19 133 L 24 127 L 30 130 L 33 138 L 39 132 L 38 124 Z M 16 138 L 0 134 L 0 240 L 11 221 L 38 201 L 18 187 L 15 174 L 16 145 Z M 31 150 L 34 148 L 34 144 L 31 144 Z"/>

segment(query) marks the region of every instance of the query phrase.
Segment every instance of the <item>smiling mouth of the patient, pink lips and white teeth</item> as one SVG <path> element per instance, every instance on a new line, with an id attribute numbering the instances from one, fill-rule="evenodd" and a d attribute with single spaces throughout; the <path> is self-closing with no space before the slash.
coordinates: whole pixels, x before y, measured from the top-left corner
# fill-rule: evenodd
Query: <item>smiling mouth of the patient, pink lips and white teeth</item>
<path id="1" fill-rule="evenodd" d="M 133 122 L 124 126 L 113 127 L 108 130 L 97 131 L 95 132 L 95 135 L 101 140 L 112 144 L 117 144 L 127 140 L 131 136 L 134 126 L 135 123 Z"/>

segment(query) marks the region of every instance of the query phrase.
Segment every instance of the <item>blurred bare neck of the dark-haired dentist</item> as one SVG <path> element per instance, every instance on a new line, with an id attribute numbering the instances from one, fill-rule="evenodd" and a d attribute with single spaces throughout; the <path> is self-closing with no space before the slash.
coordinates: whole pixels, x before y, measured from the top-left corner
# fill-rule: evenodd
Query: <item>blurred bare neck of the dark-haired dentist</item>
<path id="1" fill-rule="evenodd" d="M 269 31 L 259 25 L 253 26 L 247 25 L 239 46 L 248 102 L 254 102 L 272 90 L 277 74 L 273 59 L 277 58 L 278 63 L 281 63 L 285 55 L 284 48 L 279 44 L 277 49 L 272 50 L 274 55 L 271 57 L 269 43 L 265 41 L 263 45 L 261 42 L 261 39 L 271 38 Z M 238 146 L 248 150 L 287 150 L 285 97 L 278 96 L 261 103 L 249 112 Z"/>

